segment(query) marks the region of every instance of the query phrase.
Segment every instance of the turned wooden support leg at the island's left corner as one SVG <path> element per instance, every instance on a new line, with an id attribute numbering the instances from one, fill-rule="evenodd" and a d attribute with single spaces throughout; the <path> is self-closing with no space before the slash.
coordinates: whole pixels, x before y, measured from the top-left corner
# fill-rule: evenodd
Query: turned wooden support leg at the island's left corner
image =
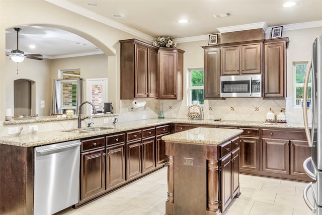
<path id="1" fill-rule="evenodd" d="M 175 214 L 175 186 L 174 186 L 174 151 L 173 142 L 166 142 L 168 156 L 168 200 L 166 201 L 166 215 Z"/>

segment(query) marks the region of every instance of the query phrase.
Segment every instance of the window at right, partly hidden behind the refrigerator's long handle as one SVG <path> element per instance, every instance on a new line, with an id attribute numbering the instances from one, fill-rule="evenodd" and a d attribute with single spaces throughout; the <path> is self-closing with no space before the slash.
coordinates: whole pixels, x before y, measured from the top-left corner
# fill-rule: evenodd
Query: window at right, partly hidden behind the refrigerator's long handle
<path id="1" fill-rule="evenodd" d="M 307 61 L 293 62 L 293 98 L 294 107 L 301 107 L 303 101 L 304 77 L 307 67 Z M 311 100 L 311 75 L 308 80 L 307 101 Z"/>

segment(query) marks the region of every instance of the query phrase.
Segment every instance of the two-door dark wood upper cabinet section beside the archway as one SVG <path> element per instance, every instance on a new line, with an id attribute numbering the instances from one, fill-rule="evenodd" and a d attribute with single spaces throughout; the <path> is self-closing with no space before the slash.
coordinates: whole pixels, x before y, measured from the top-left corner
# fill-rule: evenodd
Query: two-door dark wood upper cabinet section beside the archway
<path id="1" fill-rule="evenodd" d="M 120 40 L 121 99 L 158 97 L 158 47 Z"/>

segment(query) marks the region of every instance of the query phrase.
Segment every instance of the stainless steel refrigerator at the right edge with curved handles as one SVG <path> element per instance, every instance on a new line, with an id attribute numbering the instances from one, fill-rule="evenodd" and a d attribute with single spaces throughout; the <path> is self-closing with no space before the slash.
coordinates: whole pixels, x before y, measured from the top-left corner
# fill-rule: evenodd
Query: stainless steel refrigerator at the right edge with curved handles
<path id="1" fill-rule="evenodd" d="M 311 129 L 307 120 L 307 86 L 311 70 Z M 307 141 L 311 147 L 311 157 L 307 158 L 303 167 L 312 178 L 304 191 L 303 198 L 312 214 L 322 214 L 322 35 L 312 45 L 311 60 L 308 63 L 303 90 L 303 118 Z M 308 190 L 312 188 L 314 202 L 309 201 Z"/>

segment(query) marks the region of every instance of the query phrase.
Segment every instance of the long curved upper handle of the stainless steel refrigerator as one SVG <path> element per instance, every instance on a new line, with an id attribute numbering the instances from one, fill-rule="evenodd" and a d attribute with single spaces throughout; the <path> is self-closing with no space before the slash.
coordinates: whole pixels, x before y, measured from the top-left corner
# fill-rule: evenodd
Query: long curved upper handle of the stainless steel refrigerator
<path id="1" fill-rule="evenodd" d="M 305 128 L 307 143 L 309 147 L 312 147 L 312 142 L 311 142 L 311 134 L 310 134 L 310 129 L 308 127 L 308 120 L 307 120 L 307 87 L 308 87 L 308 79 L 309 79 L 311 67 L 312 67 L 312 62 L 310 59 L 308 61 L 306 71 L 305 71 L 304 87 L 303 87 L 303 107 L 302 107 L 303 118 L 304 118 L 304 128 Z"/>

